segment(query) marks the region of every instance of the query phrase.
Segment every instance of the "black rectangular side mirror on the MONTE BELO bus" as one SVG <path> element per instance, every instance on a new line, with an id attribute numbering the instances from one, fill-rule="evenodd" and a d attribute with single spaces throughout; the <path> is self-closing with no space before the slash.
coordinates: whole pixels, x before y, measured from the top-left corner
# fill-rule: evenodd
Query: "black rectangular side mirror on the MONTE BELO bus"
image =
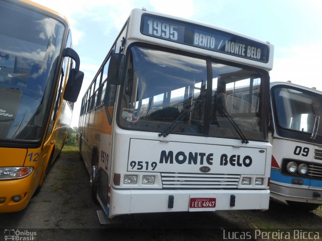
<path id="1" fill-rule="evenodd" d="M 108 82 L 110 84 L 119 85 L 122 83 L 125 66 L 124 54 L 112 54 L 107 72 Z"/>

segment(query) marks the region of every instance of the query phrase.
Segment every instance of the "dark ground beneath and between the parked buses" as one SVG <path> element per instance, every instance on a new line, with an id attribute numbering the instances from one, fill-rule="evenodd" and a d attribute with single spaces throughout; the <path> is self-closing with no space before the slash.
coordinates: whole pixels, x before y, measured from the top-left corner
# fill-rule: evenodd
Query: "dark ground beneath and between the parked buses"
<path id="1" fill-rule="evenodd" d="M 277 231 L 280 240 L 295 240 L 293 235 L 288 238 L 281 234 L 289 230 L 293 234 L 294 229 L 298 230 L 298 237 L 302 237 L 299 240 L 305 239 L 303 232 L 311 232 L 314 237 L 311 240 L 322 240 L 322 209 L 302 212 L 274 201 L 264 212 L 142 214 L 127 216 L 125 222 L 108 227 L 99 224 L 96 213 L 99 209 L 100 206 L 91 199 L 89 177 L 78 152 L 63 151 L 40 193 L 32 198 L 26 209 L 0 213 L 0 241 L 5 240 L 9 230 L 24 238 L 20 240 L 275 239 L 272 233 L 270 236 L 255 236 L 258 229 Z M 248 231 L 252 232 L 250 236 L 247 236 Z M 321 238 L 316 239 L 316 232 Z M 30 234 L 36 235 L 31 239 Z M 28 235 L 30 239 L 26 239 Z"/>

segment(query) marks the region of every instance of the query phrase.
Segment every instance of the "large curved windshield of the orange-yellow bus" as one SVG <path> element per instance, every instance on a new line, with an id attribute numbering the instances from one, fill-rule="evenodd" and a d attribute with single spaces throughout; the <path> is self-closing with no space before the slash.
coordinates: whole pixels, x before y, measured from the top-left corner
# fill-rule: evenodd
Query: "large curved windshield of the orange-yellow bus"
<path id="1" fill-rule="evenodd" d="M 65 27 L 10 3 L 0 8 L 0 139 L 39 140 Z"/>

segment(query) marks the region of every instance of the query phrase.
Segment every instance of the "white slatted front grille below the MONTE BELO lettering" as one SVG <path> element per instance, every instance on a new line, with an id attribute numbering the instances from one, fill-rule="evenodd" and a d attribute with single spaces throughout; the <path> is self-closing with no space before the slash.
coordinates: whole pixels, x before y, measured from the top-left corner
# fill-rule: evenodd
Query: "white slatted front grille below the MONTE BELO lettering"
<path id="1" fill-rule="evenodd" d="M 163 188 L 237 188 L 240 175 L 161 173 Z"/>

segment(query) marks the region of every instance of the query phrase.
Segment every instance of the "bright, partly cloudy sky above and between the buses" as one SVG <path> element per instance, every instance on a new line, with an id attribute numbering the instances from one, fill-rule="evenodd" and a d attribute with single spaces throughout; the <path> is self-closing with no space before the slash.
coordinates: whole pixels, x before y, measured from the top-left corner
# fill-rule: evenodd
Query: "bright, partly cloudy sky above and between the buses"
<path id="1" fill-rule="evenodd" d="M 274 45 L 271 81 L 322 91 L 322 1 L 319 0 L 33 0 L 64 15 L 85 73 L 71 127 L 78 126 L 82 97 L 134 8 L 192 19 Z"/>

